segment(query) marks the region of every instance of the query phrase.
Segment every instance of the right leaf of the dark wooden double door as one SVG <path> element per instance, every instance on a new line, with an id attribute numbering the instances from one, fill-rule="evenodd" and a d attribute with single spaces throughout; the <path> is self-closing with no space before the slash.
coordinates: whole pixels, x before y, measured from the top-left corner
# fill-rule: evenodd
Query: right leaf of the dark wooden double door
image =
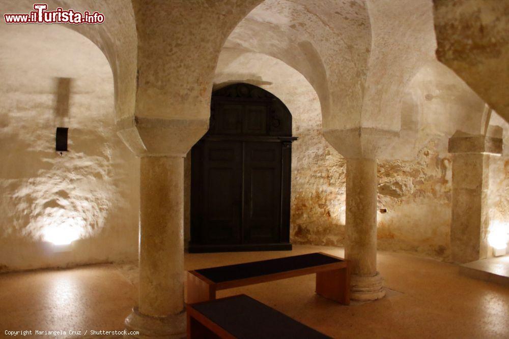
<path id="1" fill-rule="evenodd" d="M 281 209 L 281 144 L 244 144 L 244 241 L 279 241 Z"/>

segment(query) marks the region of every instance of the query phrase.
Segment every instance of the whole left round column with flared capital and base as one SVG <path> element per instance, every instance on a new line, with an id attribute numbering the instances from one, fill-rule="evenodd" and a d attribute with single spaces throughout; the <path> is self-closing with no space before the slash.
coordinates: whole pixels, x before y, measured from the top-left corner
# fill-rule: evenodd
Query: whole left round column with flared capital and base
<path id="1" fill-rule="evenodd" d="M 207 119 L 126 117 L 118 134 L 140 158 L 139 295 L 126 318 L 135 338 L 185 336 L 184 157 Z"/>

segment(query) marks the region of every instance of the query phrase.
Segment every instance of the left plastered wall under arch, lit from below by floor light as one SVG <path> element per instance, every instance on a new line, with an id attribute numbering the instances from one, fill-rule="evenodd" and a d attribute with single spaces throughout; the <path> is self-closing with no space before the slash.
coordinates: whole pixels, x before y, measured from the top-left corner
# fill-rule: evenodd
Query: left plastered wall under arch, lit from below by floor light
<path id="1" fill-rule="evenodd" d="M 56 25 L 3 26 L 0 51 L 0 270 L 135 259 L 139 165 L 115 131 L 106 58 Z"/>

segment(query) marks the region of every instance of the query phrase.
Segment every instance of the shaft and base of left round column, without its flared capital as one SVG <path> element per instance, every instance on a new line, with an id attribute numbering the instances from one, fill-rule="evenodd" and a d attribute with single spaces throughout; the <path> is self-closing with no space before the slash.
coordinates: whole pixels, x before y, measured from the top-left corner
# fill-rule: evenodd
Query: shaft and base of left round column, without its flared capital
<path id="1" fill-rule="evenodd" d="M 137 338 L 184 336 L 183 203 L 183 158 L 141 157 L 139 299 L 125 321 Z"/>

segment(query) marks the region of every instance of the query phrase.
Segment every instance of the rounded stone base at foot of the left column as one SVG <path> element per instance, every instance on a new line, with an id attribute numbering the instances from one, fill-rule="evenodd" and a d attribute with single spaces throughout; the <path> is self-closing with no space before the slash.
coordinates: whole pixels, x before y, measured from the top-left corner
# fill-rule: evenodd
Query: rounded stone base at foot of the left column
<path id="1" fill-rule="evenodd" d="M 126 331 L 138 331 L 137 335 L 125 335 L 129 339 L 182 339 L 186 337 L 186 312 L 167 317 L 152 317 L 139 313 L 134 307 L 125 320 Z"/>

